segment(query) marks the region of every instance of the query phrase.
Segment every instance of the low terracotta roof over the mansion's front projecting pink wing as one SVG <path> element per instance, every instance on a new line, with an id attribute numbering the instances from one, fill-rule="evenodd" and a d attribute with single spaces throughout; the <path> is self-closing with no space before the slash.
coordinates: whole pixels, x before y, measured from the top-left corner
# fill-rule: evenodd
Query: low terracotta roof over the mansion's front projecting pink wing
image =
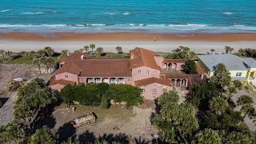
<path id="1" fill-rule="evenodd" d="M 138 80 L 138 81 L 134 82 L 135 86 L 146 86 L 146 85 L 150 85 L 152 83 L 158 83 L 158 84 L 165 85 L 165 86 L 174 86 L 173 83 L 170 82 L 169 79 L 161 79 L 161 78 L 154 78 L 154 77 L 145 78 L 145 79 Z"/>

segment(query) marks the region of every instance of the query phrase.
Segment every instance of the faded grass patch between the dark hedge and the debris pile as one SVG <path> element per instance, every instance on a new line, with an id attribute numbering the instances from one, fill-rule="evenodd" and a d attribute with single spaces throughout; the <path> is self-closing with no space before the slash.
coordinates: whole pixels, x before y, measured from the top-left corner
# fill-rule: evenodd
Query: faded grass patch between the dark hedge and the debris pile
<path id="1" fill-rule="evenodd" d="M 77 107 L 76 113 L 89 113 L 94 112 L 97 116 L 97 121 L 102 122 L 104 120 L 104 117 L 110 116 L 111 118 L 122 118 L 127 119 L 134 117 L 134 114 L 132 111 L 127 110 L 125 107 L 121 108 L 121 106 L 110 106 L 109 109 L 102 109 L 99 106 L 78 106 L 73 105 Z"/>

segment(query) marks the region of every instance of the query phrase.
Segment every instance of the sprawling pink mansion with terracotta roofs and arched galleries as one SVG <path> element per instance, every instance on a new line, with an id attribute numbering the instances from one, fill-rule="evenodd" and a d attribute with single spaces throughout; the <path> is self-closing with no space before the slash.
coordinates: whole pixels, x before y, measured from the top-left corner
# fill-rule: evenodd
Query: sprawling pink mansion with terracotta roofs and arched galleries
<path id="1" fill-rule="evenodd" d="M 67 54 L 60 69 L 50 79 L 50 88 L 60 91 L 67 84 L 106 82 L 142 88 L 146 99 L 158 98 L 174 87 L 188 87 L 201 79 L 199 74 L 178 74 L 186 60 L 164 59 L 143 48 L 130 50 L 130 58 L 89 58 L 87 54 Z"/>

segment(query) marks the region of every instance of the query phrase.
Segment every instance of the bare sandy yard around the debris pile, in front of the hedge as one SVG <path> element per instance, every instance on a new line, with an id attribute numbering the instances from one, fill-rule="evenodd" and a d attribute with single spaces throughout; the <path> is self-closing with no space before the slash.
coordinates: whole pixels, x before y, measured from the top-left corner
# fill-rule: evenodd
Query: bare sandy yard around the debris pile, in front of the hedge
<path id="1" fill-rule="evenodd" d="M 158 132 L 150 123 L 150 116 L 154 110 L 134 108 L 134 111 L 131 111 L 119 106 L 111 106 L 107 110 L 93 106 L 78 106 L 74 113 L 71 110 L 55 110 L 54 129 L 58 130 L 66 122 L 88 112 L 94 112 L 97 115 L 96 122 L 76 128 L 76 135 L 84 134 L 89 130 L 96 137 L 103 134 L 126 134 L 129 139 L 142 138 L 150 141 L 151 134 Z"/>

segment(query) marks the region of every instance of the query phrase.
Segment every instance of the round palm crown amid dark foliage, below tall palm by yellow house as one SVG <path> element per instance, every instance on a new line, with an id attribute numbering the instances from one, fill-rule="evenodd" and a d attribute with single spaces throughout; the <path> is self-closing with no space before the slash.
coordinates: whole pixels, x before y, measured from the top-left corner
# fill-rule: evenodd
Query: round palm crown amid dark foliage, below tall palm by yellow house
<path id="1" fill-rule="evenodd" d="M 215 114 L 223 114 L 228 106 L 229 104 L 224 98 L 214 97 L 210 100 L 210 110 L 214 111 Z"/>

